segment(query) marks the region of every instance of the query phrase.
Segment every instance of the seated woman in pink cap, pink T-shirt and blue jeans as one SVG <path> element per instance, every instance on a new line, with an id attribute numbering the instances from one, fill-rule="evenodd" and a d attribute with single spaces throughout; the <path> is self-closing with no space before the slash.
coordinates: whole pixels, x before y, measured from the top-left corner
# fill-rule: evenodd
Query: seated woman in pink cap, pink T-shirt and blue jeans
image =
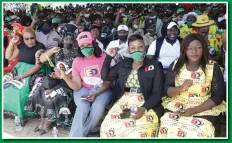
<path id="1" fill-rule="evenodd" d="M 73 61 L 72 79 L 58 70 L 58 77 L 74 90 L 76 113 L 69 133 L 71 137 L 86 137 L 94 132 L 102 118 L 105 107 L 111 100 L 110 82 L 101 80 L 100 71 L 105 54 L 98 47 L 90 32 L 81 32 L 77 37 L 77 52 L 80 57 Z"/>

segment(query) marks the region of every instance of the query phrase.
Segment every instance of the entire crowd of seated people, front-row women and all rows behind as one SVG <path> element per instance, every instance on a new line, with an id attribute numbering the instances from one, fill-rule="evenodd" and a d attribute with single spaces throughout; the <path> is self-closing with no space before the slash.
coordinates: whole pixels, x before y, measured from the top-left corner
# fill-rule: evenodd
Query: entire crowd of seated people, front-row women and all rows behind
<path id="1" fill-rule="evenodd" d="M 4 9 L 4 117 L 39 115 L 40 135 L 64 125 L 70 137 L 215 137 L 227 109 L 226 7 Z"/>

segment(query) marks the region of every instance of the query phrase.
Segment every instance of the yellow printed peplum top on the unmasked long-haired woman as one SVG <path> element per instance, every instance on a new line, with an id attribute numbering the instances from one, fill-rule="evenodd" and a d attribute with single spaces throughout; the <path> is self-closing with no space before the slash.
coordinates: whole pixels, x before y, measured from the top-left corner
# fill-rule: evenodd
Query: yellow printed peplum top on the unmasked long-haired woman
<path id="1" fill-rule="evenodd" d="M 211 96 L 211 82 L 213 78 L 214 61 L 210 61 L 206 65 L 206 73 L 199 68 L 195 72 L 190 72 L 186 69 L 186 65 L 180 70 L 179 76 L 175 78 L 175 87 L 181 86 L 186 79 L 193 80 L 193 85 L 185 92 L 181 92 L 175 97 L 166 97 L 162 105 L 165 109 L 177 112 L 187 108 L 193 108 L 204 103 Z M 220 113 L 225 112 L 226 104 L 222 102 L 220 105 L 215 106 L 210 110 L 195 114 L 194 116 L 218 116 Z"/>

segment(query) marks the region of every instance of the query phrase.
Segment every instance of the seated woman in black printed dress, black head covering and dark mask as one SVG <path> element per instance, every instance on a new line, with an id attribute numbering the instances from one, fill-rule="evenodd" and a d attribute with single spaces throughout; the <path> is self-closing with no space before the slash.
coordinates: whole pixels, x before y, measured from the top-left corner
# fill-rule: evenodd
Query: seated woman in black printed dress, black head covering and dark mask
<path id="1" fill-rule="evenodd" d="M 61 29 L 65 29 L 65 31 Z M 77 30 L 77 26 L 73 24 L 66 23 L 59 26 L 58 32 L 64 37 L 64 48 L 54 47 L 40 56 L 42 63 L 47 62 L 50 58 L 54 59 L 56 68 L 65 71 L 69 78 L 71 78 L 73 59 L 77 57 L 75 30 Z M 39 114 L 41 117 L 40 124 L 34 129 L 35 132 L 40 131 L 40 135 L 43 135 L 51 129 L 53 123 L 71 126 L 70 92 L 72 90 L 64 80 L 57 77 L 55 72 L 50 73 L 49 76 L 34 85 L 25 110 Z"/>

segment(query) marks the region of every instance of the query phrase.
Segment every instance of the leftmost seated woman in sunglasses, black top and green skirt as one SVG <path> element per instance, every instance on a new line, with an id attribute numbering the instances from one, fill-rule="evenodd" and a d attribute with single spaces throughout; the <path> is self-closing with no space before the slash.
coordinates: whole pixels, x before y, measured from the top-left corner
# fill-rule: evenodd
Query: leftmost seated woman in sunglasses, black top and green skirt
<path id="1" fill-rule="evenodd" d="M 19 118 L 32 115 L 24 111 L 24 106 L 36 77 L 45 72 L 43 68 L 41 69 L 42 64 L 37 58 L 41 50 L 45 49 L 44 45 L 35 40 L 35 32 L 32 28 L 24 28 L 22 36 L 23 42 L 17 47 L 14 48 L 13 45 L 18 43 L 19 36 L 15 36 L 6 49 L 6 58 L 19 57 L 19 63 L 8 74 L 8 80 L 5 80 L 6 84 L 4 83 L 4 111 L 16 113 Z M 17 88 L 15 85 L 7 84 L 13 79 L 23 82 L 23 87 Z"/>

